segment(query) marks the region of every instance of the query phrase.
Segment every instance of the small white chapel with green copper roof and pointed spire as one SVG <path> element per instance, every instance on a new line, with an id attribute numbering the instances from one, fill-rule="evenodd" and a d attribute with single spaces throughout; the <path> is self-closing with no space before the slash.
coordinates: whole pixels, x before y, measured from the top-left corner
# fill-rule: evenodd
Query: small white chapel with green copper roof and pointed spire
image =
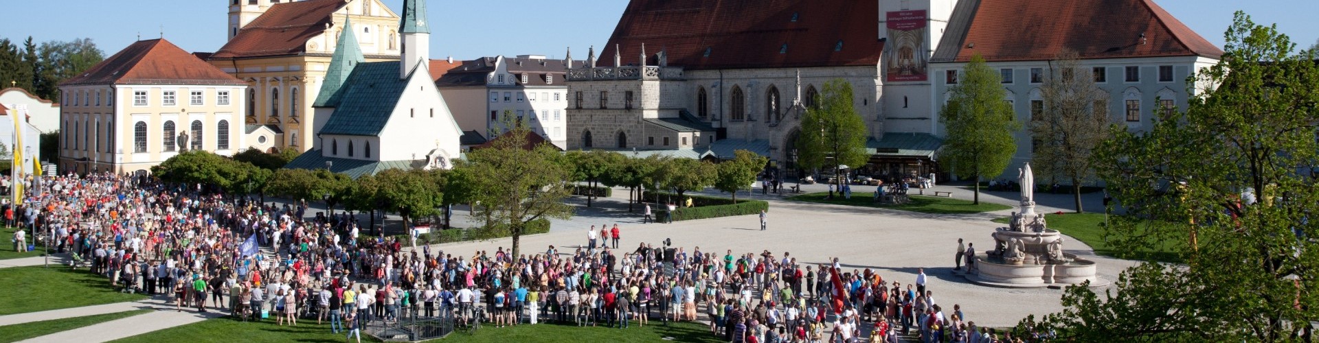
<path id="1" fill-rule="evenodd" d="M 463 132 L 430 75 L 425 0 L 404 0 L 397 32 L 401 58 L 383 62 L 367 62 L 353 32 L 339 36 L 313 104 L 313 149 L 286 168 L 327 168 L 355 178 L 385 169 L 452 168 Z"/>

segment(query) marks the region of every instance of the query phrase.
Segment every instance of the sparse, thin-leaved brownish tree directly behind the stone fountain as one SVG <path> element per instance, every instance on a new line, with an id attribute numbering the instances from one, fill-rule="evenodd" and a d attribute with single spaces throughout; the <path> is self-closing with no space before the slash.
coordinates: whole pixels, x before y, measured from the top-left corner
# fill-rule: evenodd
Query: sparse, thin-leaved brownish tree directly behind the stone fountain
<path id="1" fill-rule="evenodd" d="M 1031 117 L 1033 165 L 1043 175 L 1071 181 L 1076 212 L 1082 212 L 1080 183 L 1095 174 L 1091 156 L 1108 139 L 1108 95 L 1084 75 L 1074 51 L 1066 51 L 1039 87 L 1043 111 Z M 1034 107 L 1034 104 L 1031 104 Z M 1025 185 L 1022 185 L 1025 186 Z"/>

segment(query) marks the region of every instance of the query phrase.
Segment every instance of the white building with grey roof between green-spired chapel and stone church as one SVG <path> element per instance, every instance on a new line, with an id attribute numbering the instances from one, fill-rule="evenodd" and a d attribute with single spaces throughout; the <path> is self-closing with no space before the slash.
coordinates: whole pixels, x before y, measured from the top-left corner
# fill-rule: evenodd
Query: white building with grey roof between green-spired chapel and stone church
<path id="1" fill-rule="evenodd" d="M 571 54 L 570 57 L 571 58 Z M 529 125 L 563 149 L 567 127 L 567 67 L 583 62 L 546 59 L 545 55 L 516 58 L 483 57 L 472 61 L 431 61 L 435 87 L 448 100 L 454 119 L 474 139 L 464 145 L 480 144 L 499 136 L 504 113 Z M 476 135 L 476 136 L 474 136 Z"/>

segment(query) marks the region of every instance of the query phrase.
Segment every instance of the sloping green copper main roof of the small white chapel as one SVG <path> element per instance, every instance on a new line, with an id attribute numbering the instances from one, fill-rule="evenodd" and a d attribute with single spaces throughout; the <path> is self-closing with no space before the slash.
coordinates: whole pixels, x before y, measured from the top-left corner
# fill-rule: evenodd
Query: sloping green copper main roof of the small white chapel
<path id="1" fill-rule="evenodd" d="M 326 107 L 334 107 L 334 113 L 319 133 L 380 135 L 406 87 L 408 80 L 398 79 L 398 61 L 357 65 L 343 87 L 324 103 Z"/>

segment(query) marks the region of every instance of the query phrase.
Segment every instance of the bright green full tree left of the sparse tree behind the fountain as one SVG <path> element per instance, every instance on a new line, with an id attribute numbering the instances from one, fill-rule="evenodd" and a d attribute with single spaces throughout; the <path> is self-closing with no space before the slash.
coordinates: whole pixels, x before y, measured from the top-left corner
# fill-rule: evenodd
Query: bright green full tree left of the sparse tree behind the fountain
<path id="1" fill-rule="evenodd" d="M 973 203 L 979 204 L 980 178 L 997 177 L 1008 168 L 1017 153 L 1012 133 L 1021 129 L 1021 124 L 1013 120 L 1012 106 L 1002 100 L 1005 91 L 998 73 L 985 66 L 979 54 L 971 57 L 962 83 L 951 91 L 948 103 L 939 111 L 939 121 L 948 133 L 940 154 L 958 175 L 973 181 Z"/>

